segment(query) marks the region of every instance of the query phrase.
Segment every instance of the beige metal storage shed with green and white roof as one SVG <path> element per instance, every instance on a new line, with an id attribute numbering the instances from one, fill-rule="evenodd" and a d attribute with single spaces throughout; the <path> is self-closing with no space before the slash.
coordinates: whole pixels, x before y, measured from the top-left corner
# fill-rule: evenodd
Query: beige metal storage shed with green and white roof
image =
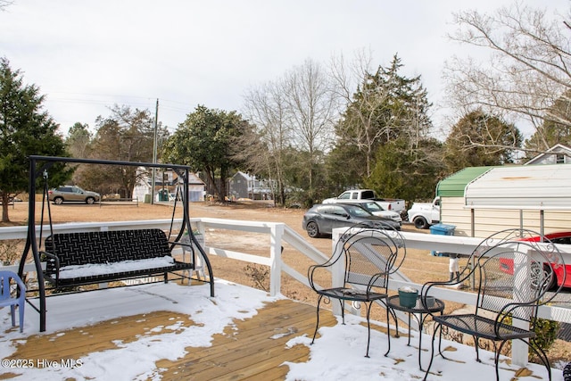
<path id="1" fill-rule="evenodd" d="M 504 228 L 571 231 L 571 166 L 471 167 L 444 178 L 441 222 L 456 236 L 489 236 Z"/>

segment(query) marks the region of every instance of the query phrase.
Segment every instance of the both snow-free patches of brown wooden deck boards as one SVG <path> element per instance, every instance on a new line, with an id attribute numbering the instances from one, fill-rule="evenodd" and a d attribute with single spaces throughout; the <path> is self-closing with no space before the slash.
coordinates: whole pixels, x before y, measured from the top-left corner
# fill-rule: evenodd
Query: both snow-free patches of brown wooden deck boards
<path id="1" fill-rule="evenodd" d="M 285 361 L 308 359 L 305 345 L 286 348 L 288 340 L 298 335 L 313 335 L 315 306 L 291 300 L 270 302 L 250 319 L 235 319 L 222 334 L 214 335 L 209 347 L 187 347 L 186 356 L 178 360 L 159 360 L 157 369 L 164 380 L 246 380 L 284 379 L 289 371 Z M 161 335 L 154 327 L 184 329 L 194 325 L 191 316 L 173 311 L 156 311 L 111 319 L 87 327 L 77 327 L 47 335 L 30 335 L 26 341 L 14 342 L 13 359 L 79 359 L 89 353 L 118 348 L 118 343 L 137 341 L 140 336 Z M 333 326 L 331 311 L 321 311 L 320 327 Z M 162 331 L 164 333 L 164 331 Z M 0 378 L 10 378 L 4 373 Z"/>

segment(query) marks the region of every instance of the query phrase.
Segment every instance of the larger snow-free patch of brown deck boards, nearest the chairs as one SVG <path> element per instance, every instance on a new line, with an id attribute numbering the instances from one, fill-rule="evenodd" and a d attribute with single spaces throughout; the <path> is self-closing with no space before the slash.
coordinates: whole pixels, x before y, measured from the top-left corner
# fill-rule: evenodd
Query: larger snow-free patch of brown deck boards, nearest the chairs
<path id="1" fill-rule="evenodd" d="M 270 303 L 252 319 L 236 321 L 236 330 L 227 328 L 223 335 L 214 337 L 209 348 L 188 348 L 189 353 L 178 361 L 159 361 L 157 367 L 168 368 L 166 379 L 193 380 L 250 379 L 269 372 L 272 378 L 284 378 L 285 361 L 305 360 L 307 347 L 297 345 L 286 349 L 292 335 L 313 335 L 315 307 L 288 300 Z M 336 323 L 330 311 L 323 311 L 322 326 Z M 263 379 L 266 379 L 265 377 Z"/>

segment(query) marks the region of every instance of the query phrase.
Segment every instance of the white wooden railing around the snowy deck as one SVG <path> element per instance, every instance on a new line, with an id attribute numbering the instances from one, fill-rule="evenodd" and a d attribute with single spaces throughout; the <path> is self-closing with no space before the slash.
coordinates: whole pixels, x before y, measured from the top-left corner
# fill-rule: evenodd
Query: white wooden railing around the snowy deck
<path id="1" fill-rule="evenodd" d="M 175 221 L 175 228 L 178 226 L 179 220 Z M 153 220 L 140 220 L 140 221 L 119 221 L 119 222 L 89 222 L 89 223 L 67 223 L 54 225 L 54 232 L 74 232 L 74 231 L 99 231 L 99 230 L 119 230 L 127 228 L 170 228 L 170 219 L 153 219 Z M 293 267 L 287 265 L 282 261 L 282 247 L 288 244 L 297 252 L 302 253 L 310 258 L 312 262 L 322 263 L 327 261 L 331 253 L 321 253 L 315 247 L 307 242 L 305 238 L 300 236 L 294 229 L 289 228 L 283 223 L 277 222 L 260 222 L 260 221 L 244 221 L 235 219 L 191 219 L 191 223 L 206 236 L 204 249 L 209 255 L 217 255 L 238 261 L 245 261 L 269 266 L 269 293 L 277 295 L 281 290 L 281 275 L 282 273 L 294 277 L 297 281 L 305 286 L 309 286 L 307 274 L 300 273 Z M 224 229 L 231 231 L 236 237 L 240 232 L 247 234 L 259 233 L 267 235 L 268 241 L 261 242 L 261 246 L 269 247 L 267 255 L 259 255 L 252 253 L 242 253 L 232 250 L 217 247 L 217 243 L 208 239 L 208 232 L 211 229 Z M 43 236 L 50 234 L 48 226 L 43 227 Z M 40 227 L 37 227 L 37 236 L 39 236 Z M 332 251 L 335 247 L 338 237 L 343 233 L 344 229 L 335 229 L 332 239 Z M 27 227 L 9 227 L 0 228 L 0 240 L 4 239 L 25 239 L 27 236 Z M 443 253 L 472 253 L 476 245 L 480 243 L 480 238 L 463 237 L 463 236 L 439 236 L 428 235 L 422 233 L 401 232 L 402 236 L 406 239 L 407 248 L 422 249 L 422 250 L 435 250 Z M 560 250 L 564 253 L 564 260 L 566 263 L 571 263 L 571 245 L 559 245 Z M 31 255 L 28 258 L 31 260 Z M 4 267 L 4 269 L 18 270 L 18 265 L 11 267 Z M 25 271 L 33 272 L 35 267 L 33 263 L 28 263 Z M 332 275 L 333 276 L 333 275 Z M 568 276 L 571 276 L 568 275 Z M 334 276 L 333 276 L 334 277 Z M 393 278 L 390 284 L 391 288 L 396 290 L 401 286 L 416 286 L 418 289 L 422 286 L 414 284 L 407 277 L 399 274 Z M 468 292 L 463 292 L 455 289 L 436 289 L 434 296 L 444 301 L 459 302 L 467 305 L 475 305 L 476 296 Z M 571 323 L 571 309 L 561 306 L 542 306 L 539 311 L 539 316 L 544 319 L 557 320 L 560 322 Z M 514 343 L 516 344 L 516 343 Z M 519 355 L 514 355 L 512 359 L 514 363 L 525 364 L 526 351 L 516 351 Z"/>

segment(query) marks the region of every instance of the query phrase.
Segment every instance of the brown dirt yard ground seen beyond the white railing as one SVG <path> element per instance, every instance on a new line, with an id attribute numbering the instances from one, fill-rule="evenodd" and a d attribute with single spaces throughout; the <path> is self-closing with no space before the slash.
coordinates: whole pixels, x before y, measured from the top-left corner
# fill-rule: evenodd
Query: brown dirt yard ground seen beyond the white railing
<path id="1" fill-rule="evenodd" d="M 41 203 L 37 203 L 36 220 L 41 219 Z M 167 204 L 103 204 L 103 205 L 87 205 L 77 204 L 50 204 L 50 211 L 54 223 L 63 222 L 94 222 L 94 221 L 124 221 L 124 220 L 140 220 L 140 219 L 170 219 L 173 215 L 172 205 Z M 302 216 L 305 211 L 301 209 L 283 209 L 273 207 L 273 204 L 266 201 L 252 202 L 236 202 L 229 204 L 221 203 L 191 203 L 191 218 L 217 218 L 217 219 L 242 219 L 267 222 L 283 222 L 288 227 L 293 228 L 300 235 L 305 237 L 307 241 L 316 247 L 321 253 L 330 255 L 332 252 L 330 238 L 310 238 L 302 229 Z M 175 217 L 180 217 L 180 208 L 175 212 Z M 8 225 L 27 225 L 28 222 L 28 203 L 15 203 L 9 207 L 9 217 L 11 223 Z M 46 210 L 45 217 L 46 220 Z M 5 223 L 2 226 L 6 226 Z M 405 224 L 405 231 L 420 232 L 412 225 Z M 428 231 L 422 231 L 428 233 Z M 216 242 L 221 248 L 243 251 L 245 253 L 256 253 L 264 255 L 267 253 L 267 237 L 252 234 L 236 235 L 236 232 L 224 230 L 209 230 L 206 232 L 206 242 Z M 289 266 L 294 267 L 300 273 L 305 274 L 310 264 L 302 254 L 296 252 L 292 248 L 285 245 L 282 258 Z M 255 286 L 258 288 L 267 288 L 269 279 L 265 273 L 265 269 L 261 266 L 248 266 L 244 262 L 227 260 L 218 257 L 211 257 L 214 275 L 234 281 L 236 283 Z M 407 257 L 401 266 L 402 272 L 410 277 L 414 282 L 424 283 L 428 280 L 444 279 L 448 277 L 448 258 L 434 257 L 427 251 L 408 250 Z M 305 286 L 291 277 L 282 277 L 282 293 L 292 299 L 302 302 L 315 303 L 315 294 Z M 447 303 L 446 312 L 456 310 L 462 306 L 458 303 Z M 384 320 L 382 313 L 380 317 L 375 317 L 381 321 Z M 571 344 L 562 340 L 557 340 L 556 344 L 550 349 L 550 359 L 553 363 L 557 361 L 568 361 L 571 359 Z"/>

